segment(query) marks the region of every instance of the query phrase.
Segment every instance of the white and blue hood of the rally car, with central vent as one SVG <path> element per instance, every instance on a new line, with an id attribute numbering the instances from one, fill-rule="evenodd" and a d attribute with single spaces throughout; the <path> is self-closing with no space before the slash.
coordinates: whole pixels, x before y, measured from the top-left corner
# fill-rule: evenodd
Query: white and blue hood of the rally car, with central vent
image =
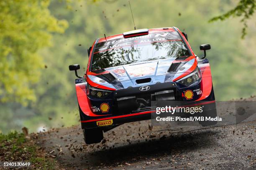
<path id="1" fill-rule="evenodd" d="M 169 58 L 138 62 L 105 68 L 105 72 L 89 74 L 87 78 L 98 85 L 104 85 L 113 89 L 151 85 L 156 82 L 172 81 L 181 76 L 184 72 L 191 72 L 189 69 L 192 65 L 195 65 L 195 62 L 195 57 L 188 60 Z M 147 81 L 139 81 L 143 79 Z"/>

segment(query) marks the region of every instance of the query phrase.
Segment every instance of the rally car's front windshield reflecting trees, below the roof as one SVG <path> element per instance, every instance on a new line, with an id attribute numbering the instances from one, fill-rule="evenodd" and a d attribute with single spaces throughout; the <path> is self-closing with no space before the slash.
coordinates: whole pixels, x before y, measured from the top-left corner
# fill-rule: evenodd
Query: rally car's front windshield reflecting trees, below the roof
<path id="1" fill-rule="evenodd" d="M 151 33 L 97 43 L 91 70 L 188 55 L 178 32 Z"/>

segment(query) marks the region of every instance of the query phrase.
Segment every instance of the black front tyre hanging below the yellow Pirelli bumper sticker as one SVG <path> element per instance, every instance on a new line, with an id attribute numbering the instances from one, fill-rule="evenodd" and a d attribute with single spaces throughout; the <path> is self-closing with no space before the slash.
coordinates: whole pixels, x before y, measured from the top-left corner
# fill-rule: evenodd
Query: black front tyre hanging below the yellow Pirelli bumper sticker
<path id="1" fill-rule="evenodd" d="M 103 131 L 98 128 L 83 129 L 84 141 L 86 144 L 100 143 L 103 139 Z"/>

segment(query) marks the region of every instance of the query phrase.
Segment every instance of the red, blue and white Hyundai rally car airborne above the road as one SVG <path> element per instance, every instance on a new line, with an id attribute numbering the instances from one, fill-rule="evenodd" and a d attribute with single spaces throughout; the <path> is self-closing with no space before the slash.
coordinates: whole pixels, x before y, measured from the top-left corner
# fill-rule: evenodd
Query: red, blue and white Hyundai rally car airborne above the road
<path id="1" fill-rule="evenodd" d="M 204 57 L 209 49 L 209 44 L 200 45 Z M 178 28 L 98 38 L 88 55 L 84 77 L 77 75 L 78 64 L 69 66 L 79 77 L 75 86 L 87 144 L 99 143 L 103 132 L 118 125 L 151 119 L 151 101 L 215 106 L 209 62 L 194 54 L 187 34 Z"/>

